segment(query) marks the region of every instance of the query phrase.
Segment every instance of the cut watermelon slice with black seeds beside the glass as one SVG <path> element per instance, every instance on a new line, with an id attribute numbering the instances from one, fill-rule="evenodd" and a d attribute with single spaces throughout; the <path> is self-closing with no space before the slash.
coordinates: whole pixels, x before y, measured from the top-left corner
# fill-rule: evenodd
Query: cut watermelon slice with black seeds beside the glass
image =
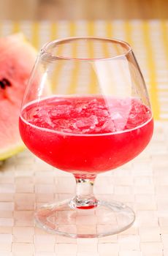
<path id="1" fill-rule="evenodd" d="M 23 34 L 0 39 L 0 160 L 24 148 L 18 118 L 36 57 L 36 50 Z"/>

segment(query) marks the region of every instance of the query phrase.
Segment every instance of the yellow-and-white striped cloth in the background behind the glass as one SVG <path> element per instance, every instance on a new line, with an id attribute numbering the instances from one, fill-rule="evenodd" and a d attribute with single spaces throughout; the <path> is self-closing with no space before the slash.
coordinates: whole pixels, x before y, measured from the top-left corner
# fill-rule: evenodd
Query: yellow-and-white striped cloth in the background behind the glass
<path id="1" fill-rule="evenodd" d="M 168 120 L 168 20 L 6 20 L 0 24 L 1 36 L 18 31 L 23 31 L 38 49 L 49 40 L 74 36 L 113 37 L 129 42 L 150 92 L 154 117 Z"/>

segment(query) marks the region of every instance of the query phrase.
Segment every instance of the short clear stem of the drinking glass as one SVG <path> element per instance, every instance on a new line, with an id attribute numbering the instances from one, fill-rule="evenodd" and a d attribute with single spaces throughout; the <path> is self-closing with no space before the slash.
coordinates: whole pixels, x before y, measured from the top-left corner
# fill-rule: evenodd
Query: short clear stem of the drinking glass
<path id="1" fill-rule="evenodd" d="M 95 208 L 99 201 L 93 195 L 93 184 L 95 178 L 76 178 L 76 196 L 71 201 L 73 208 L 91 209 Z"/>

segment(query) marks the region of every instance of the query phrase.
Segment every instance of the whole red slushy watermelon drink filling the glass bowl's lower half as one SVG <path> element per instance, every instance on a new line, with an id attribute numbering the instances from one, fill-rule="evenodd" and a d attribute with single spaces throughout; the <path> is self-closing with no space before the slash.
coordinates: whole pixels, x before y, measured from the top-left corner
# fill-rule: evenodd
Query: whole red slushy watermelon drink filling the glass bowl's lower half
<path id="1" fill-rule="evenodd" d="M 26 146 L 80 178 L 129 162 L 152 133 L 151 111 L 135 98 L 50 97 L 26 105 L 20 116 Z"/>

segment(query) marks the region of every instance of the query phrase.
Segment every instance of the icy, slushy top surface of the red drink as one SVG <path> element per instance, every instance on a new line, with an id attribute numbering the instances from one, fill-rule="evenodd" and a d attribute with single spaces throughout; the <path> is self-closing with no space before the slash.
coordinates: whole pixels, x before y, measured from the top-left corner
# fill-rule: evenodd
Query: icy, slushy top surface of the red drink
<path id="1" fill-rule="evenodd" d="M 151 117 L 137 99 L 56 97 L 23 110 L 23 118 L 37 127 L 77 134 L 102 134 L 133 129 Z"/>

